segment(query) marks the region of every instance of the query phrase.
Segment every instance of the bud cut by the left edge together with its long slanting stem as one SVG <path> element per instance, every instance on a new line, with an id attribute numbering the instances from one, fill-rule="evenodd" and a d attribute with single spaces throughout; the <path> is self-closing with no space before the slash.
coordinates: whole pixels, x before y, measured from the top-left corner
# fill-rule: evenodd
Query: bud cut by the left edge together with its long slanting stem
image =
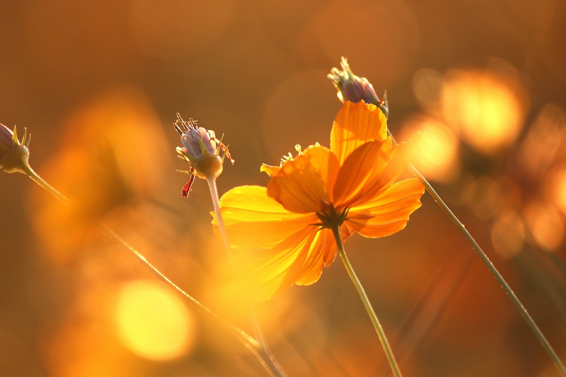
<path id="1" fill-rule="evenodd" d="M 29 159 L 29 140 L 31 135 L 27 138 L 27 132 L 24 133 L 24 137 L 20 142 L 18 140 L 18 134 L 16 132 L 16 127 L 14 127 L 14 132 L 12 133 L 12 143 L 8 144 L 6 140 L 7 138 L 3 137 L 6 136 L 10 129 L 5 127 L 4 125 L 0 124 L 0 170 L 4 170 L 8 173 L 12 172 L 20 172 L 28 177 L 30 177 L 35 183 L 40 185 L 41 188 L 45 189 L 48 193 L 52 194 L 57 200 L 61 201 L 63 204 L 68 205 L 70 201 L 60 192 L 58 192 L 52 185 L 47 183 L 40 175 L 38 175 L 35 170 L 29 166 L 28 159 Z M 5 135 L 6 134 L 6 135 Z M 7 145 L 8 144 L 8 145 Z M 159 271 L 155 266 L 153 266 L 147 258 L 143 256 L 138 250 L 136 250 L 133 246 L 128 244 L 126 240 L 122 237 L 117 235 L 112 229 L 106 227 L 101 222 L 97 223 L 97 226 L 102 229 L 103 232 L 107 233 L 108 235 L 114 237 L 120 244 L 126 247 L 128 251 L 130 251 L 137 259 L 142 263 L 142 265 L 147 268 L 149 272 L 155 278 L 165 283 L 170 288 L 172 288 L 175 292 L 181 295 L 183 300 L 187 302 L 187 304 L 195 306 L 200 313 L 207 314 L 210 318 L 216 320 L 217 323 L 221 324 L 226 330 L 228 330 L 238 341 L 240 341 L 259 361 L 261 366 L 268 372 L 271 377 L 278 377 L 271 372 L 269 367 L 269 362 L 265 359 L 265 357 L 261 354 L 262 353 L 262 345 L 255 340 L 253 337 L 248 335 L 245 331 L 241 330 L 240 328 L 234 326 L 228 320 L 220 317 L 219 315 L 215 314 L 213 311 L 208 309 L 208 307 L 201 304 L 195 298 L 193 298 L 190 294 L 183 291 L 181 287 L 177 284 L 173 283 L 167 276 L 165 276 L 161 271 Z"/>

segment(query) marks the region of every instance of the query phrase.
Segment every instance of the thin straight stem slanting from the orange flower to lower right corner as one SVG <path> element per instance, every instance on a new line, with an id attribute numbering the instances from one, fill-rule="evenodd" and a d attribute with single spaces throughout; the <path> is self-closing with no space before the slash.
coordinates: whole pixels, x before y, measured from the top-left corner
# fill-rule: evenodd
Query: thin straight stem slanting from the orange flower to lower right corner
<path id="1" fill-rule="evenodd" d="M 391 136 L 393 142 L 395 143 L 395 138 L 393 137 L 393 135 L 391 135 L 391 131 L 389 131 L 389 129 L 387 130 L 387 133 L 389 134 L 389 136 Z M 556 369 L 558 369 L 558 371 L 560 372 L 560 375 L 566 377 L 566 369 L 564 368 L 564 365 L 560 361 L 560 358 L 556 354 L 555 350 L 552 348 L 550 343 L 548 343 L 548 340 L 546 339 L 546 337 L 544 337 L 541 329 L 534 322 L 533 318 L 530 316 L 529 312 L 525 309 L 525 306 L 523 306 L 521 301 L 518 299 L 517 295 L 513 292 L 511 287 L 509 287 L 507 281 L 503 279 L 503 276 L 501 276 L 497 268 L 495 268 L 494 264 L 487 257 L 487 254 L 484 253 L 482 248 L 479 247 L 478 242 L 474 240 L 474 237 L 470 235 L 470 232 L 468 232 L 468 229 L 466 229 L 464 224 L 462 224 L 460 220 L 458 220 L 456 215 L 452 213 L 452 211 L 448 208 L 446 203 L 444 203 L 444 201 L 440 198 L 438 193 L 436 193 L 434 188 L 432 188 L 430 183 L 428 183 L 428 181 L 422 176 L 422 174 L 419 173 L 417 169 L 415 169 L 414 166 L 411 164 L 409 165 L 409 171 L 415 177 L 417 177 L 419 181 L 421 181 L 421 183 L 424 185 L 428 193 L 432 196 L 432 198 L 434 198 L 434 200 L 436 201 L 436 203 L 438 203 L 438 205 L 444 211 L 444 213 L 452 220 L 454 224 L 456 224 L 456 226 L 458 227 L 458 229 L 460 229 L 462 234 L 464 234 L 468 242 L 470 242 L 471 246 L 474 248 L 475 252 L 478 253 L 480 258 L 482 258 L 483 263 L 485 263 L 487 268 L 491 271 L 491 274 L 495 276 L 495 279 L 501 285 L 501 288 L 503 288 L 505 293 L 507 293 L 507 296 L 511 298 L 513 305 L 515 305 L 519 313 L 521 313 L 521 316 L 523 317 L 523 319 L 525 319 L 526 323 L 534 332 L 534 335 L 537 337 L 539 342 L 541 342 L 541 345 L 543 346 L 548 356 L 550 356 L 550 358 L 552 359 L 552 362 L 554 362 L 554 365 L 556 366 Z"/>

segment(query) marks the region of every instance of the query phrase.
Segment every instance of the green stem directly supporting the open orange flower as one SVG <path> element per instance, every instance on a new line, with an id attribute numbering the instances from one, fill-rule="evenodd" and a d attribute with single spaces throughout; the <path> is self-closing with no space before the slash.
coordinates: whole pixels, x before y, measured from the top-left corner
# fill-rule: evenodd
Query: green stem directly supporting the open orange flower
<path id="1" fill-rule="evenodd" d="M 360 283 L 358 276 L 356 276 L 354 272 L 354 268 L 350 265 L 350 261 L 346 256 L 346 252 L 344 251 L 344 245 L 342 244 L 342 239 L 340 238 L 340 231 L 338 230 L 338 226 L 332 228 L 332 232 L 334 233 L 334 237 L 336 239 L 336 245 L 338 246 L 338 252 L 340 253 L 340 257 L 342 258 L 342 262 L 344 262 L 344 266 L 346 266 L 346 270 L 348 271 L 348 275 L 350 275 L 350 279 L 355 285 L 355 288 L 358 290 L 359 297 L 362 299 L 363 306 L 365 306 L 367 315 L 371 319 L 371 323 L 375 327 L 375 331 L 378 333 L 379 341 L 381 342 L 381 346 L 383 346 L 383 350 L 385 351 L 385 356 L 387 356 L 387 361 L 389 361 L 389 366 L 391 366 L 391 370 L 393 371 L 393 375 L 395 377 L 401 377 L 401 371 L 399 370 L 399 366 L 395 361 L 395 356 L 393 356 L 393 351 L 391 350 L 391 346 L 387 341 L 387 337 L 385 337 L 385 332 L 383 331 L 383 327 L 381 327 L 381 323 L 379 323 L 378 316 L 375 315 L 374 308 L 371 306 L 370 299 L 367 297 L 366 291 L 364 291 L 362 287 L 362 283 Z"/>

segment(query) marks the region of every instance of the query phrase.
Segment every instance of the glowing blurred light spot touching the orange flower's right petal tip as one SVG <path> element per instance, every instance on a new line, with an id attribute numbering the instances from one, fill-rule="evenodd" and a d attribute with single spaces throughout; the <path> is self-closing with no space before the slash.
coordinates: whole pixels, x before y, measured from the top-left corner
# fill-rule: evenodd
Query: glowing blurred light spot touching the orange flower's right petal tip
<path id="1" fill-rule="evenodd" d="M 458 137 L 451 129 L 434 119 L 410 120 L 403 126 L 401 140 L 407 140 L 414 132 L 426 134 L 413 152 L 413 163 L 425 177 L 449 183 L 460 171 L 458 161 Z"/>

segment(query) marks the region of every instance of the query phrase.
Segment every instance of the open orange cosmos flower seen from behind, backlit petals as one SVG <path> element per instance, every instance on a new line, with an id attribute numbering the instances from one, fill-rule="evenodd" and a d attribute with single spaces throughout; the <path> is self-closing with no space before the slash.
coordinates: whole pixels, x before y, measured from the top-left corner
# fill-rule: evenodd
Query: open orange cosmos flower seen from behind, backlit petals
<path id="1" fill-rule="evenodd" d="M 230 244 L 268 249 L 249 266 L 251 297 L 268 300 L 293 284 L 315 283 L 336 257 L 332 228 L 343 241 L 355 232 L 383 237 L 405 228 L 424 187 L 417 179 L 394 182 L 421 136 L 393 145 L 378 107 L 345 102 L 330 149 L 298 148 L 281 166 L 261 167 L 272 177 L 267 188 L 225 193 L 220 208 Z M 216 216 L 212 223 L 218 232 Z"/>

